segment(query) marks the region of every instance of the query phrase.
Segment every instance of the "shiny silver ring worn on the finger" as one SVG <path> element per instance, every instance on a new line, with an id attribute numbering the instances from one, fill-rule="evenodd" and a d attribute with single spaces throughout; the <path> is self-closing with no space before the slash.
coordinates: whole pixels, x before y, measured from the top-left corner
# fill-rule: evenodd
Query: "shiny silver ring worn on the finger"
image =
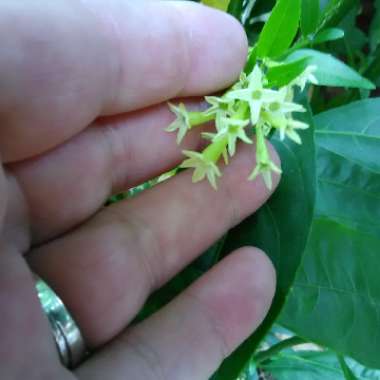
<path id="1" fill-rule="evenodd" d="M 62 300 L 46 282 L 34 276 L 38 298 L 49 320 L 61 362 L 67 368 L 74 368 L 86 355 L 82 334 Z"/>

